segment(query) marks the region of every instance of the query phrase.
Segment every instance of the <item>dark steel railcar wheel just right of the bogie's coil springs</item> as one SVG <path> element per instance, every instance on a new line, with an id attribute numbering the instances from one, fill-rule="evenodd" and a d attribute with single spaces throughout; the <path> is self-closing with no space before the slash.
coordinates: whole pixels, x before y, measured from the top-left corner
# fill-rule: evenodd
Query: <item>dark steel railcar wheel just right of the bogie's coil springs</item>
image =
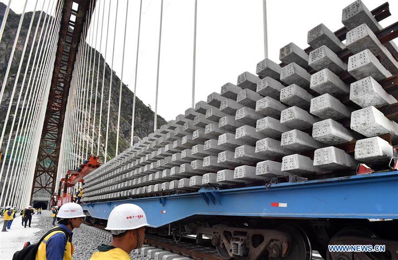
<path id="1" fill-rule="evenodd" d="M 282 259 L 300 259 L 311 260 L 312 249 L 307 234 L 298 226 L 285 224 L 278 228 L 278 230 L 289 233 L 292 237 L 292 243 L 289 247 L 288 254 Z"/>

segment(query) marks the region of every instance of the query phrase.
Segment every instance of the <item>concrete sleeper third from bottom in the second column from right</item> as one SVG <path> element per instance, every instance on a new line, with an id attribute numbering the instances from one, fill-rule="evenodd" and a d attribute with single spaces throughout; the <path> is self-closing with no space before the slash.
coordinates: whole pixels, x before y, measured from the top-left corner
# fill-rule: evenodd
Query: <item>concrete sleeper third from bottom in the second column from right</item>
<path id="1" fill-rule="evenodd" d="M 322 119 L 339 120 L 349 117 L 351 109 L 343 105 L 340 100 L 326 93 L 311 99 L 309 112 Z"/>

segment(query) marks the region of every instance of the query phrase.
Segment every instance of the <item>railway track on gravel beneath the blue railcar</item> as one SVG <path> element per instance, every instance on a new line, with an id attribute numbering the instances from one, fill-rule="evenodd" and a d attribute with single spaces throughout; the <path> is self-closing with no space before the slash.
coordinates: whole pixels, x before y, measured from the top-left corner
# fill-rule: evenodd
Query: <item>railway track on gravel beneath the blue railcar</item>
<path id="1" fill-rule="evenodd" d="M 105 226 L 100 224 L 93 224 L 85 221 L 84 224 L 101 229 L 103 232 L 109 233 L 105 230 Z M 196 245 L 194 239 L 185 238 L 176 243 L 173 238 L 161 237 L 152 234 L 146 234 L 144 244 L 150 247 L 163 249 L 174 254 L 185 256 L 194 260 L 223 260 L 219 257 L 217 251 L 212 246 Z M 313 252 L 312 260 L 323 260 L 317 252 Z"/>

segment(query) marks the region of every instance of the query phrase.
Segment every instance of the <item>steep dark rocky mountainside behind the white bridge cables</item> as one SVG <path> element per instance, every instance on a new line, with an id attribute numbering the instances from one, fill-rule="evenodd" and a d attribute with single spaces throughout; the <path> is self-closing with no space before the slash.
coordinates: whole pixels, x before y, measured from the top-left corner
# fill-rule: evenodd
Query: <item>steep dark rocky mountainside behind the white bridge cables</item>
<path id="1" fill-rule="evenodd" d="M 0 20 L 2 20 L 2 16 L 4 14 L 6 6 L 0 2 Z M 14 85 L 14 81 L 16 78 L 16 72 L 18 70 L 19 61 L 21 59 L 21 54 L 23 50 L 23 45 L 25 43 L 26 34 L 29 28 L 30 19 L 32 17 L 32 12 L 25 13 L 24 20 L 22 23 L 21 33 L 17 42 L 17 47 L 15 50 L 12 66 L 10 69 L 7 85 L 5 88 L 5 92 L 3 95 L 3 99 L 0 105 L 0 126 L 2 128 L 5 120 L 5 114 L 8 109 L 8 104 L 12 102 L 12 110 L 15 110 L 19 89 L 22 83 L 23 75 L 19 76 L 17 89 L 14 95 L 13 100 L 10 100 L 11 91 Z M 33 22 L 33 27 L 30 32 L 29 44 L 25 53 L 25 64 L 22 66 L 21 72 L 23 73 L 26 67 L 27 57 L 29 55 L 30 48 L 32 46 L 32 38 L 35 30 L 35 25 L 37 24 L 37 19 L 39 17 L 39 12 L 35 14 L 35 21 Z M 12 49 L 12 44 L 16 35 L 16 30 L 18 27 L 18 22 L 20 19 L 20 15 L 14 13 L 12 10 L 9 11 L 7 23 L 5 26 L 4 34 L 0 43 L 0 85 L 4 80 L 5 71 L 7 68 L 9 55 Z M 44 14 L 42 20 L 44 19 Z M 41 26 L 41 24 L 40 24 Z M 39 30 L 40 32 L 40 30 Z M 38 33 L 39 35 L 39 33 Z M 36 39 L 38 41 L 38 36 Z M 89 47 L 89 52 L 91 51 L 91 47 Z M 36 47 L 33 51 L 36 50 Z M 96 52 L 96 61 L 95 66 L 94 63 L 94 54 Z M 94 135 L 94 151 L 97 151 L 97 139 L 98 139 L 98 132 L 99 132 L 99 115 L 100 115 L 100 100 L 101 100 L 101 86 L 102 86 L 102 71 L 104 66 L 104 59 L 102 55 L 100 56 L 100 77 L 98 82 L 98 91 L 97 91 L 97 100 L 95 100 L 95 89 L 97 84 L 97 74 L 98 74 L 98 57 L 100 55 L 95 49 L 92 52 L 92 68 L 90 71 L 90 78 L 94 73 L 94 84 L 93 84 L 93 100 L 91 105 L 91 125 L 93 124 L 93 115 L 94 115 L 94 107 L 95 101 L 97 101 L 96 107 L 96 127 L 95 127 L 95 135 Z M 34 52 L 33 52 L 34 55 Z M 90 59 L 89 57 L 87 59 Z M 31 63 L 33 61 L 33 57 Z M 31 66 L 30 66 L 31 67 Z M 28 71 L 30 74 L 30 69 Z M 116 131 L 117 131 L 117 110 L 118 110 L 118 98 L 119 98 L 119 86 L 120 86 L 120 79 L 111 72 L 109 66 L 105 64 L 105 78 L 104 78 L 104 88 L 103 88 L 103 105 L 102 105 L 102 119 L 101 119 L 101 140 L 100 140 L 100 160 L 103 161 L 104 155 L 104 147 L 105 147 L 105 135 L 106 135 L 106 116 L 107 116 L 107 109 L 108 109 L 108 93 L 109 93 L 109 83 L 110 83 L 110 73 L 113 73 L 112 79 L 112 92 L 111 92 L 111 101 L 110 101 L 110 115 L 109 115 L 109 137 L 108 137 L 108 160 L 115 156 L 116 150 Z M 27 76 L 29 76 L 29 74 Z M 27 83 L 25 83 L 26 89 Z M 87 85 L 90 87 L 89 89 L 89 96 L 88 96 L 88 103 L 90 104 L 90 90 L 91 90 L 91 83 Z M 25 90 L 22 93 L 22 98 L 24 95 Z M 83 95 L 83 93 L 82 93 Z M 130 91 L 126 85 L 123 84 L 122 87 L 122 100 L 121 100 L 121 117 L 120 117 L 120 134 L 119 134 L 119 152 L 125 150 L 126 148 L 130 147 L 130 137 L 131 137 L 131 118 L 132 118 L 132 109 L 133 109 L 133 97 L 134 94 Z M 20 109 L 18 110 L 20 111 Z M 4 137 L 4 142 L 1 144 L 1 151 L 4 152 L 6 146 L 6 140 L 8 139 L 10 124 L 12 123 L 12 113 L 9 116 L 7 122 L 7 131 L 5 132 L 6 135 Z M 18 122 L 20 113 L 17 113 L 16 122 Z M 87 118 L 89 117 L 89 112 L 86 114 Z M 150 106 L 146 106 L 138 97 L 136 98 L 136 108 L 135 108 L 135 119 L 134 119 L 134 143 L 138 141 L 138 138 L 143 138 L 148 134 L 152 133 L 153 131 L 153 124 L 154 124 L 154 112 L 151 110 Z M 159 126 L 166 124 L 166 120 L 163 119 L 161 116 L 158 115 L 158 128 Z M 15 134 L 16 125 L 14 126 L 13 136 Z M 1 131 L 1 130 L 0 130 Z M 92 138 L 92 126 L 90 127 L 90 134 L 86 135 L 84 138 L 85 140 L 89 140 L 89 144 L 91 145 L 91 138 Z M 12 139 L 13 138 L 12 136 Z M 137 137 L 137 138 L 136 138 Z M 23 138 L 23 136 L 20 136 Z M 12 142 L 12 141 L 11 141 Z M 89 149 L 90 150 L 90 149 Z M 10 151 L 9 151 L 10 152 Z M 89 151 L 90 152 L 90 151 Z"/>

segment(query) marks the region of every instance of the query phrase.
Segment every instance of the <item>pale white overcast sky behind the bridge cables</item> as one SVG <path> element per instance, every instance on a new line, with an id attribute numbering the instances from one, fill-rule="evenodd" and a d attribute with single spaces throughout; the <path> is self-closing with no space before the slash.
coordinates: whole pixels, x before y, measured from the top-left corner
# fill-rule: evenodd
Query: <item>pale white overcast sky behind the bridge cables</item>
<path id="1" fill-rule="evenodd" d="M 43 0 L 38 1 L 38 6 L 41 6 Z M 370 10 L 385 1 L 363 0 Z M 20 13 L 24 2 L 12 0 L 11 9 Z M 342 9 L 351 2 L 353 0 L 268 0 L 268 58 L 279 63 L 279 49 L 290 42 L 302 49 L 308 47 L 307 32 L 320 23 L 331 31 L 343 27 Z M 161 0 L 143 0 L 138 54 L 136 94 L 152 109 L 155 108 L 160 3 Z M 108 8 L 109 0 L 98 0 L 96 17 L 93 17 L 86 38 L 90 45 L 100 50 L 102 55 L 105 54 L 106 25 L 110 11 L 106 62 L 113 66 L 113 70 L 131 90 L 134 89 L 135 79 L 139 4 L 140 0 L 128 0 L 126 8 L 127 0 L 111 0 Z M 28 0 L 26 10 L 32 11 L 34 5 L 35 0 Z M 184 114 L 192 103 L 194 6 L 195 0 L 164 0 L 158 114 L 166 120 Z M 398 11 L 398 1 L 390 1 L 390 11 L 392 15 L 380 22 L 383 27 L 397 21 L 398 14 L 394 11 Z M 102 18 L 104 25 L 101 37 Z M 115 45 L 112 63 L 113 35 Z M 398 43 L 397 40 L 395 42 Z M 236 84 L 237 77 L 245 71 L 255 74 L 257 63 L 264 58 L 262 0 L 198 0 L 196 102 L 206 101 L 207 95 L 212 92 L 219 93 L 225 83 Z"/>

